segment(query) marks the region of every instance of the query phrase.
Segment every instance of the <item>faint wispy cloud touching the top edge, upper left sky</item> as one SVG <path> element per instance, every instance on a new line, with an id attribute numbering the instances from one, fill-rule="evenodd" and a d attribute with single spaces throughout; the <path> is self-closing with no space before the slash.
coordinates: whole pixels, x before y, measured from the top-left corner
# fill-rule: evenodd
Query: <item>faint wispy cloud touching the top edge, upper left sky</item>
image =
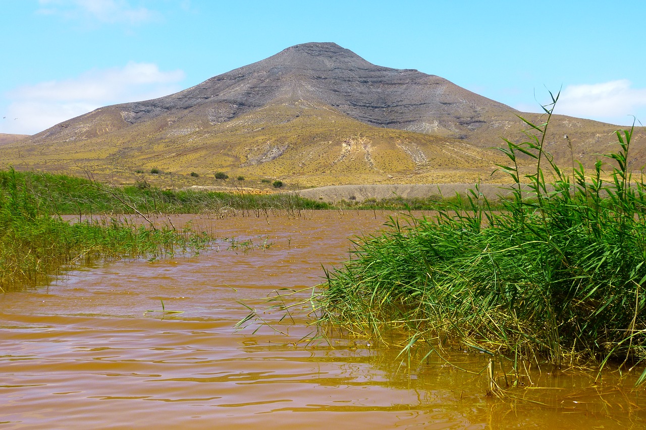
<path id="1" fill-rule="evenodd" d="M 101 23 L 137 24 L 155 19 L 157 13 L 126 0 L 38 0 L 40 14 L 69 19 L 94 19 Z"/>

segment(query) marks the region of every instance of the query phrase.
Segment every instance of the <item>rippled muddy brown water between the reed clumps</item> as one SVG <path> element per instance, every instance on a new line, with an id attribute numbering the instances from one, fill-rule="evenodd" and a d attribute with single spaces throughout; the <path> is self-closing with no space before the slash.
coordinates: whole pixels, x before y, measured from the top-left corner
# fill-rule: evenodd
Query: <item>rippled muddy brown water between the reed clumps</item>
<path id="1" fill-rule="evenodd" d="M 172 216 L 220 240 L 197 256 L 96 263 L 3 294 L 0 429 L 646 426 L 640 393 L 612 375 L 544 369 L 501 400 L 485 395 L 486 359 L 474 353 L 452 356 L 468 373 L 437 358 L 409 367 L 399 351 L 363 340 L 306 345 L 304 312 L 280 325 L 287 335 L 234 329 L 248 313 L 240 303 L 276 322 L 259 298 L 322 282 L 322 265 L 347 260 L 348 237 L 381 229 L 387 216 Z M 146 313 L 161 300 L 183 313 Z"/>

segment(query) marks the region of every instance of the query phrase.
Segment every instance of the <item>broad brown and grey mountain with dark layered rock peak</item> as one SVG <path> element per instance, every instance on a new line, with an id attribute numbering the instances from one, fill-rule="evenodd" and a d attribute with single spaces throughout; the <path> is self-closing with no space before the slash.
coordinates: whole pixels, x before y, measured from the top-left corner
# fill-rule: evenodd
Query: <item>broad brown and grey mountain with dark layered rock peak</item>
<path id="1" fill-rule="evenodd" d="M 526 125 L 517 115 L 540 121 L 439 76 L 305 43 L 176 94 L 69 119 L 6 156 L 14 165 L 83 168 L 122 181 L 152 167 L 302 185 L 494 181 L 495 164 L 506 160 L 490 147 L 521 138 Z M 574 153 L 590 164 L 614 149 L 615 128 L 555 116 L 548 148 L 559 162 L 569 165 Z M 636 153 L 646 162 L 643 146 Z"/>

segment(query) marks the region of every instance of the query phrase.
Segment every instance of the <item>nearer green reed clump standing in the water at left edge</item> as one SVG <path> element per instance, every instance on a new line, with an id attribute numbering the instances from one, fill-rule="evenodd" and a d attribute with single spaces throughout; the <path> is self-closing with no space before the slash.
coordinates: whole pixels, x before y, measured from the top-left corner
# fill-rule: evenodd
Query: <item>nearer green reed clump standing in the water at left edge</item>
<path id="1" fill-rule="evenodd" d="M 186 230 L 147 229 L 125 221 L 67 223 L 53 215 L 54 202 L 42 203 L 29 179 L 13 169 L 0 172 L 0 291 L 43 282 L 76 261 L 156 257 L 199 249 L 209 240 Z"/>

